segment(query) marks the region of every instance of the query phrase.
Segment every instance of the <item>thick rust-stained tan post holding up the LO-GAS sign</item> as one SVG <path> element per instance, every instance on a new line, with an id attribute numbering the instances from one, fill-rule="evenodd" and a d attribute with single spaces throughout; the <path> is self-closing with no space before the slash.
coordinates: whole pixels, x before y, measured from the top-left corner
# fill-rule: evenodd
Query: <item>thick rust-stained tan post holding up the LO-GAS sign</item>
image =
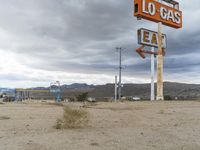
<path id="1" fill-rule="evenodd" d="M 157 58 L 157 100 L 164 100 L 163 96 L 163 51 L 162 51 L 162 23 L 158 23 L 158 58 Z"/>

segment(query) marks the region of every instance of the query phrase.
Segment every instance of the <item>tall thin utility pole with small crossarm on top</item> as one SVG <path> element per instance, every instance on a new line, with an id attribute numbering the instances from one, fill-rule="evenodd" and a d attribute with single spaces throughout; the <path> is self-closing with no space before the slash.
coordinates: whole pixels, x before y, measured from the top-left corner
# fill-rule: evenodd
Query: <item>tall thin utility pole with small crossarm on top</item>
<path id="1" fill-rule="evenodd" d="M 121 92 L 122 92 L 122 79 L 121 79 L 121 75 L 122 75 L 122 48 L 121 47 L 117 47 L 116 48 L 117 51 L 119 51 L 119 82 L 118 82 L 118 99 L 121 99 Z"/>

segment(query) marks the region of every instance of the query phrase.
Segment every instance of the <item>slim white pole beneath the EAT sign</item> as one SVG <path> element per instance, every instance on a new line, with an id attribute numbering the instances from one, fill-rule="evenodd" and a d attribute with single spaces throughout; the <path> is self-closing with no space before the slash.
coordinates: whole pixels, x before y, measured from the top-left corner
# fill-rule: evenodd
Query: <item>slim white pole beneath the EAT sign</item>
<path id="1" fill-rule="evenodd" d="M 154 47 L 151 47 L 151 52 L 154 53 Z M 155 100 L 154 75 L 155 75 L 154 54 L 151 55 L 151 101 Z"/>

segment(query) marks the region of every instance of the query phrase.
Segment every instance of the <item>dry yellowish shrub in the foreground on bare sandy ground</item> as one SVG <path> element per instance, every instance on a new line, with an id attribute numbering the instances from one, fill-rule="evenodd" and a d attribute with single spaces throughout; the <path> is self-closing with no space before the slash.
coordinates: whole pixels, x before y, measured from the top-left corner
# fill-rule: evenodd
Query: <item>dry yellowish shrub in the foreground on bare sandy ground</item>
<path id="1" fill-rule="evenodd" d="M 64 107 L 63 118 L 56 122 L 56 129 L 80 128 L 88 124 L 88 112 L 83 108 Z"/>

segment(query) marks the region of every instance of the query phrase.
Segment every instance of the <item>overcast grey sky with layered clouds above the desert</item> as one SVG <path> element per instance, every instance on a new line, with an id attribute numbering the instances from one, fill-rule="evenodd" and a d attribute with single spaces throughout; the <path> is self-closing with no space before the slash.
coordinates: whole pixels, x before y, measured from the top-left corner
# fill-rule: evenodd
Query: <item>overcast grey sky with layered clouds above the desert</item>
<path id="1" fill-rule="evenodd" d="M 133 0 L 0 0 L 0 87 L 114 82 L 123 47 L 123 83 L 150 78 L 150 56 L 135 52 Z M 200 1 L 179 0 L 183 28 L 163 26 L 165 81 L 200 84 Z"/>

